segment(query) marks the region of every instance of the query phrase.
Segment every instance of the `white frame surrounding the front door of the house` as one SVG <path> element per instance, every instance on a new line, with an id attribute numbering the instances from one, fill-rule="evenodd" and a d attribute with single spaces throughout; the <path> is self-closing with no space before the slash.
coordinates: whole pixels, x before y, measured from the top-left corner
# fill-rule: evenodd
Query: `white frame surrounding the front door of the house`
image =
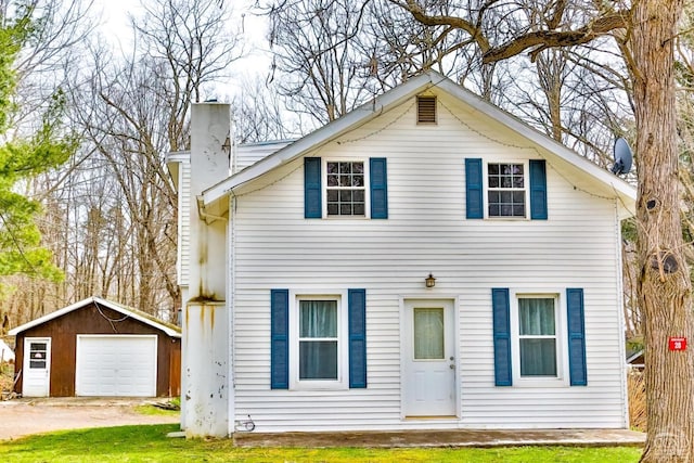
<path id="1" fill-rule="evenodd" d="M 452 413 L 440 415 L 441 419 L 458 419 L 460 417 L 460 343 L 459 343 L 459 300 L 455 296 L 412 296 L 412 297 L 401 297 L 400 298 L 400 414 L 401 419 L 408 420 L 416 420 L 417 415 L 408 414 L 408 380 L 407 380 L 407 369 L 408 369 L 408 357 L 410 355 L 410 350 L 413 348 L 412 346 L 412 333 L 411 333 L 411 324 L 406 321 L 406 317 L 410 316 L 409 305 L 421 303 L 424 306 L 438 306 L 444 307 L 446 310 L 450 310 L 450 317 L 445 317 L 445 319 L 449 320 L 450 326 L 446 326 L 446 336 L 450 338 L 450 346 L 453 350 L 450 353 L 450 357 L 453 357 L 451 361 L 449 352 L 446 352 L 447 360 L 449 363 L 449 368 L 451 368 L 453 372 L 453 378 L 451 381 L 451 387 L 453 388 L 452 401 L 453 401 L 453 410 Z M 427 414 L 426 416 L 422 416 L 422 419 L 430 420 L 433 417 L 438 417 L 438 415 Z"/>

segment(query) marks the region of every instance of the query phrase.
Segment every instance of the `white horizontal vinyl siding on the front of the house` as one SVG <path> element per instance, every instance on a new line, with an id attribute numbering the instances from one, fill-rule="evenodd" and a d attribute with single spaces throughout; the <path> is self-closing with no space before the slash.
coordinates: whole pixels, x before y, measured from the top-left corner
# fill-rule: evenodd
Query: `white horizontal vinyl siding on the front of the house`
<path id="1" fill-rule="evenodd" d="M 438 101 L 437 125 L 416 124 L 412 99 L 310 153 L 386 157 L 387 220 L 305 220 L 303 159 L 234 192 L 236 420 L 250 415 L 259 432 L 627 426 L 617 203 L 575 188 L 565 166 L 499 124 L 446 94 Z M 545 157 L 549 219 L 466 220 L 465 157 Z M 426 290 L 429 272 L 436 287 Z M 367 288 L 368 388 L 270 389 L 275 287 Z M 491 287 L 584 290 L 588 386 L 494 387 Z M 402 416 L 401 300 L 423 296 L 459 301 L 453 421 Z"/>

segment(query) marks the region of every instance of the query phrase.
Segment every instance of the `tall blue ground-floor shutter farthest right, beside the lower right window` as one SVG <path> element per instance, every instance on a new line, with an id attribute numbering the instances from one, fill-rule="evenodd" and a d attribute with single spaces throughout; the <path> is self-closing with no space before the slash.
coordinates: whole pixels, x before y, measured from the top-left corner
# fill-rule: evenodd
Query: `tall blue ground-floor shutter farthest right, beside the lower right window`
<path id="1" fill-rule="evenodd" d="M 568 318 L 568 370 L 571 386 L 587 386 L 586 329 L 583 319 L 583 290 L 566 290 L 566 311 Z"/>

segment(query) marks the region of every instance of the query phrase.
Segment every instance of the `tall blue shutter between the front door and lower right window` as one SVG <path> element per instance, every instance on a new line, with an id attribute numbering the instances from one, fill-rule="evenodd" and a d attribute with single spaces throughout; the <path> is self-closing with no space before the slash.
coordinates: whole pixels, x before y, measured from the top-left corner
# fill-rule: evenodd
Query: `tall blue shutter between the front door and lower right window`
<path id="1" fill-rule="evenodd" d="M 511 375 L 511 307 L 509 288 L 491 290 L 494 332 L 494 384 L 512 386 Z"/>

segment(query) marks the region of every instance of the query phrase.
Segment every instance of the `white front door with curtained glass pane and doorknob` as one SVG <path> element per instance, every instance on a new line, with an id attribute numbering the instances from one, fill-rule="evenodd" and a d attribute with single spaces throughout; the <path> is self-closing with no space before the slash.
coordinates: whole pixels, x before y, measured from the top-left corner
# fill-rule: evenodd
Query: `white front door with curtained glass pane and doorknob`
<path id="1" fill-rule="evenodd" d="M 406 416 L 455 416 L 455 330 L 452 300 L 404 301 Z"/>

